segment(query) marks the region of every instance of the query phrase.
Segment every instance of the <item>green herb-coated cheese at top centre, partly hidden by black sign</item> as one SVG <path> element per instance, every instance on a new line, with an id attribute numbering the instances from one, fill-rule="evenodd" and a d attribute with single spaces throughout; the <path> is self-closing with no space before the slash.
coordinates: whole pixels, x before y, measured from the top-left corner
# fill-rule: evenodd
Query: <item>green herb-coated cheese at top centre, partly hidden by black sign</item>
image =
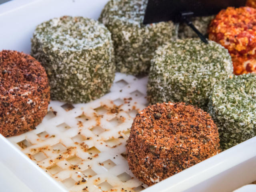
<path id="1" fill-rule="evenodd" d="M 173 22 L 143 25 L 147 0 L 110 0 L 99 21 L 112 33 L 116 68 L 127 74 L 148 73 L 156 48 L 175 35 Z"/>

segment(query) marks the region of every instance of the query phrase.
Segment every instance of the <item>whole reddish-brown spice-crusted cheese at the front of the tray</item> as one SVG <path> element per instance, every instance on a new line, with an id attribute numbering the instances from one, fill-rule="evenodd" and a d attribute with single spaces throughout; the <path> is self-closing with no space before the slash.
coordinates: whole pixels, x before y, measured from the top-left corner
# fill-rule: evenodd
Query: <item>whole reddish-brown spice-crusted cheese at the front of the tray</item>
<path id="1" fill-rule="evenodd" d="M 133 174 L 151 186 L 219 152 L 211 116 L 185 103 L 148 106 L 134 119 L 126 146 Z"/>

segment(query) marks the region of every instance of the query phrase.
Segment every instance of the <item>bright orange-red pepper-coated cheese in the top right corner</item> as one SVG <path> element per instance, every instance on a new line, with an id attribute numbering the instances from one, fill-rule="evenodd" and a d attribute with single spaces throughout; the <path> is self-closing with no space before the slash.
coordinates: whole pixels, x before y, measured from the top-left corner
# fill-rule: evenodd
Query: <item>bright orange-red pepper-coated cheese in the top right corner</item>
<path id="1" fill-rule="evenodd" d="M 220 11 L 210 24 L 209 39 L 228 49 L 234 74 L 256 72 L 256 9 L 229 7 Z"/>

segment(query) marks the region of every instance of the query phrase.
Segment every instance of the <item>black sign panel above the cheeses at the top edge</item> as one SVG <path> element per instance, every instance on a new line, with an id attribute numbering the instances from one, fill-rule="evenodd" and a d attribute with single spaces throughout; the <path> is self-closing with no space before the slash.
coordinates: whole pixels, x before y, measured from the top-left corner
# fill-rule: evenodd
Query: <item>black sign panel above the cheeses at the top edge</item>
<path id="1" fill-rule="evenodd" d="M 209 16 L 227 7 L 245 6 L 246 0 L 148 0 L 144 24 L 172 20 L 180 22 L 180 14 L 192 12 L 193 16 Z"/>

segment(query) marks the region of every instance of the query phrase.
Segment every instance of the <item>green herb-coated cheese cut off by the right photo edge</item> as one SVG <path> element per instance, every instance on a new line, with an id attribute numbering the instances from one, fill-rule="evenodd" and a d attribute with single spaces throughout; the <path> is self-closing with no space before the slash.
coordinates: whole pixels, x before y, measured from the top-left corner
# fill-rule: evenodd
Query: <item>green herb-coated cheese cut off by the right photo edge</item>
<path id="1" fill-rule="evenodd" d="M 255 82 L 255 74 L 244 74 L 214 86 L 209 112 L 219 127 L 223 149 L 256 136 Z"/>

